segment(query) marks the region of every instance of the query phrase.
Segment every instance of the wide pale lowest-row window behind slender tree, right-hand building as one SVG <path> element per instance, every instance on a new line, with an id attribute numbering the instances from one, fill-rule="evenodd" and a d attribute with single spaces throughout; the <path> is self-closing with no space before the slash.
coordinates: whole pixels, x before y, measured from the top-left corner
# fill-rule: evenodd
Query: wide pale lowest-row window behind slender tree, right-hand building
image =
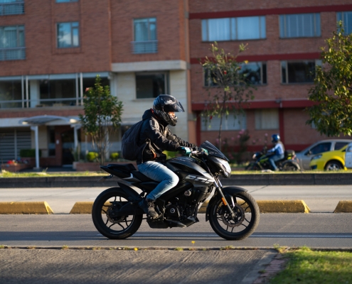
<path id="1" fill-rule="evenodd" d="M 218 131 L 220 129 L 220 117 L 213 116 L 201 124 L 201 131 Z M 241 130 L 247 129 L 246 113 L 229 114 L 228 117 L 223 116 L 222 129 L 227 130 Z"/>

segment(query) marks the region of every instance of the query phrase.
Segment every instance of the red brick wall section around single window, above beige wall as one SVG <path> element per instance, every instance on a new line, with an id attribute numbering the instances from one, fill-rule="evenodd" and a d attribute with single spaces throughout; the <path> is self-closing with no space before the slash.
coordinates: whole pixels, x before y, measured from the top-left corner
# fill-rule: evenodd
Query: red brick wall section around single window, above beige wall
<path id="1" fill-rule="evenodd" d="M 186 60 L 183 0 L 112 1 L 112 62 Z M 158 53 L 132 54 L 134 18 L 156 18 Z"/>

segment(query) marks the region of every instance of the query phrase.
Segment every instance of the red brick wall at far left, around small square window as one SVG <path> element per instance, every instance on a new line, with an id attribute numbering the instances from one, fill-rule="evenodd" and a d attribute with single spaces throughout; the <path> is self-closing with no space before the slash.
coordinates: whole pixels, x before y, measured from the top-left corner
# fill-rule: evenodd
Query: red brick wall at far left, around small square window
<path id="1" fill-rule="evenodd" d="M 0 76 L 110 70 L 109 1 L 25 1 L 25 14 L 1 16 L 0 26 L 25 26 L 26 60 L 0 62 Z M 80 22 L 80 47 L 56 48 L 56 23 Z"/>

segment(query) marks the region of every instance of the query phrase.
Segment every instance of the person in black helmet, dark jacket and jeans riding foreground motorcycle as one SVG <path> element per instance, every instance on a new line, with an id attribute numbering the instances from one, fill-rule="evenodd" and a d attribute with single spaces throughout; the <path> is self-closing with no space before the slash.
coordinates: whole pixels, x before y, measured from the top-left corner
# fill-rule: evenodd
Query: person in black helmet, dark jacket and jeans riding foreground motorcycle
<path id="1" fill-rule="evenodd" d="M 184 109 L 178 100 L 169 94 L 160 94 L 154 99 L 153 108 L 144 112 L 141 132 L 139 134 L 139 145 L 144 141 L 146 147 L 137 155 L 137 166 L 140 173 L 159 183 L 149 195 L 139 202 L 139 206 L 146 214 L 155 218 L 158 213 L 154 208 L 155 200 L 167 190 L 171 190 L 178 183 L 178 176 L 169 168 L 166 168 L 166 155 L 163 151 L 181 151 L 186 147 L 195 148 L 192 143 L 183 141 L 171 133 L 167 127 L 176 126 L 177 116 L 175 112 L 183 112 Z"/>

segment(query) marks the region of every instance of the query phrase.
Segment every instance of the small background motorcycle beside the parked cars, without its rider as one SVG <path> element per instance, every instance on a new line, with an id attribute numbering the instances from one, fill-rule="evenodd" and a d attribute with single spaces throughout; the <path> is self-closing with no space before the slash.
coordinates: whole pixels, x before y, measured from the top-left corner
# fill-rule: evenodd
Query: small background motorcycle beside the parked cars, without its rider
<path id="1" fill-rule="evenodd" d="M 267 148 L 264 147 L 262 152 L 257 152 L 253 155 L 253 162 L 250 162 L 245 170 L 272 170 L 272 165 L 269 158 L 274 153 L 267 153 Z M 301 170 L 296 158 L 296 153 L 293 150 L 284 151 L 284 158 L 275 162 L 279 170 Z"/>

